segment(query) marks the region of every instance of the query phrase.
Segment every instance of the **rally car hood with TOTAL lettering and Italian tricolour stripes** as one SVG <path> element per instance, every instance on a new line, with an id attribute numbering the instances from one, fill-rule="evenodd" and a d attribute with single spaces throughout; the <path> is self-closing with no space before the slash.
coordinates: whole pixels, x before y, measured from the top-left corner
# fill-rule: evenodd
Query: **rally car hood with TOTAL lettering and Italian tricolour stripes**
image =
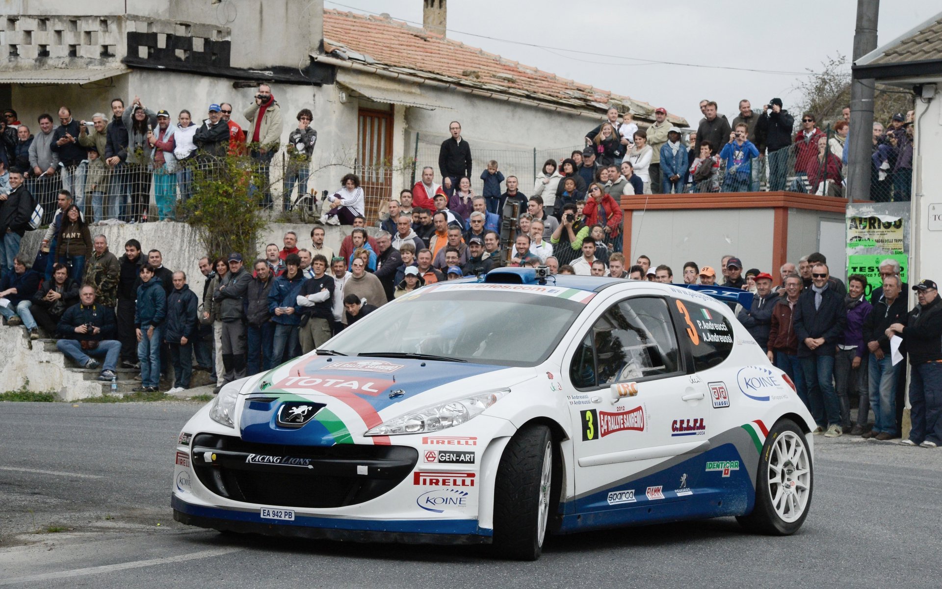
<path id="1" fill-rule="evenodd" d="M 533 368 L 411 358 L 306 356 L 274 368 L 243 388 L 241 394 L 251 397 L 242 401 L 239 429 L 243 440 L 259 443 L 352 444 L 370 428 L 407 411 L 510 386 L 533 374 Z M 468 379 L 473 382 L 463 382 Z M 284 427 L 280 412 L 299 404 L 313 417 L 300 427 Z M 309 408 L 304 410 L 305 406 Z M 385 436 L 367 439 L 374 444 L 391 443 Z"/>

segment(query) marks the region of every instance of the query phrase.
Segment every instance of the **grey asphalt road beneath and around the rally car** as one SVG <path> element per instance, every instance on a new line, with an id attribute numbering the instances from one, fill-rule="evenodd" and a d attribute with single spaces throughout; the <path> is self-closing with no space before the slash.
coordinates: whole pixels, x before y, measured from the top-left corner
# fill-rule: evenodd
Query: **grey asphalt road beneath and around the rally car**
<path id="1" fill-rule="evenodd" d="M 942 450 L 816 436 L 815 496 L 794 536 L 750 535 L 722 518 L 551 538 L 541 560 L 517 563 L 475 548 L 286 541 L 177 524 L 172 451 L 196 407 L 0 402 L 0 586 L 942 584 Z"/>

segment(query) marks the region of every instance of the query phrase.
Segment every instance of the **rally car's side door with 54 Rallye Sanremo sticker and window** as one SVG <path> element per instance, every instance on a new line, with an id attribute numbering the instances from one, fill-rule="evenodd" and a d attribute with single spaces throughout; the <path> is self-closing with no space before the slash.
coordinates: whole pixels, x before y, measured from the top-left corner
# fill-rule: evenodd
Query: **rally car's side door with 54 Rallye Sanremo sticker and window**
<path id="1" fill-rule="evenodd" d="M 692 418 L 683 422 L 685 435 L 674 435 L 676 420 L 696 415 L 685 406 L 689 401 L 684 397 L 693 392 L 686 372 L 664 297 L 635 296 L 613 303 L 577 340 L 567 375 L 581 401 L 570 402 L 577 434 L 576 493 L 594 495 L 583 508 L 615 505 L 599 493 L 688 451 L 686 432 L 706 439 L 702 424 Z M 615 399 L 618 394 L 624 396 Z M 665 480 L 661 491 L 678 484 Z M 629 490 L 640 498 L 648 491 Z"/>

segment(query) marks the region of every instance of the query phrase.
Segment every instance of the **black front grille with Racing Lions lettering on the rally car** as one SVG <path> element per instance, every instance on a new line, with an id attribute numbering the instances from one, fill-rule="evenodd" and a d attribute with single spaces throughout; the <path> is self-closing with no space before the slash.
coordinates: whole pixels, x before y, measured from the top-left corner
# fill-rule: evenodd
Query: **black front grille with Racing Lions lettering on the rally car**
<path id="1" fill-rule="evenodd" d="M 216 434 L 194 436 L 192 449 L 193 470 L 209 490 L 285 507 L 344 507 L 376 499 L 418 461 L 418 451 L 405 446 L 284 446 Z"/>

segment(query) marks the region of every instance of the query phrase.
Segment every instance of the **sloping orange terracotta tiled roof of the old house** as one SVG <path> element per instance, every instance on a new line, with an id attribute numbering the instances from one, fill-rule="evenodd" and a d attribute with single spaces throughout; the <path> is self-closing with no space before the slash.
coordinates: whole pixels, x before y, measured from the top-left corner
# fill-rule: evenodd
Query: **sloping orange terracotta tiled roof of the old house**
<path id="1" fill-rule="evenodd" d="M 324 50 L 328 54 L 339 50 L 351 61 L 370 67 L 454 86 L 600 114 L 614 104 L 623 112 L 630 110 L 636 118 L 654 120 L 655 106 L 567 80 L 386 16 L 324 10 Z M 687 125 L 675 115 L 668 115 L 668 120 Z"/>

